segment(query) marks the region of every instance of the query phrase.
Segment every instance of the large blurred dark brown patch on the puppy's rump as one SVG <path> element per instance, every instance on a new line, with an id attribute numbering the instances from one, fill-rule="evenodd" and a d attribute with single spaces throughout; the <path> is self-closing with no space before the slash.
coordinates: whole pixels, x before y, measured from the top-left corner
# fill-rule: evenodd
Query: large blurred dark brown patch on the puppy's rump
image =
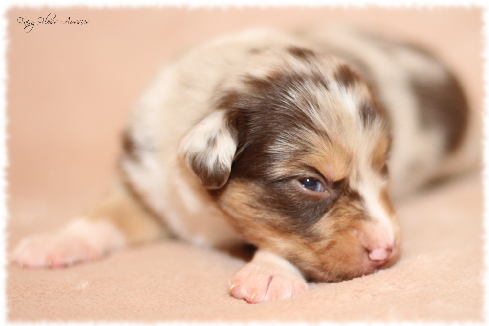
<path id="1" fill-rule="evenodd" d="M 418 99 L 423 126 L 441 127 L 445 132 L 445 153 L 455 151 L 468 123 L 467 100 L 455 76 L 447 73 L 439 83 L 413 77 L 411 87 Z"/>

